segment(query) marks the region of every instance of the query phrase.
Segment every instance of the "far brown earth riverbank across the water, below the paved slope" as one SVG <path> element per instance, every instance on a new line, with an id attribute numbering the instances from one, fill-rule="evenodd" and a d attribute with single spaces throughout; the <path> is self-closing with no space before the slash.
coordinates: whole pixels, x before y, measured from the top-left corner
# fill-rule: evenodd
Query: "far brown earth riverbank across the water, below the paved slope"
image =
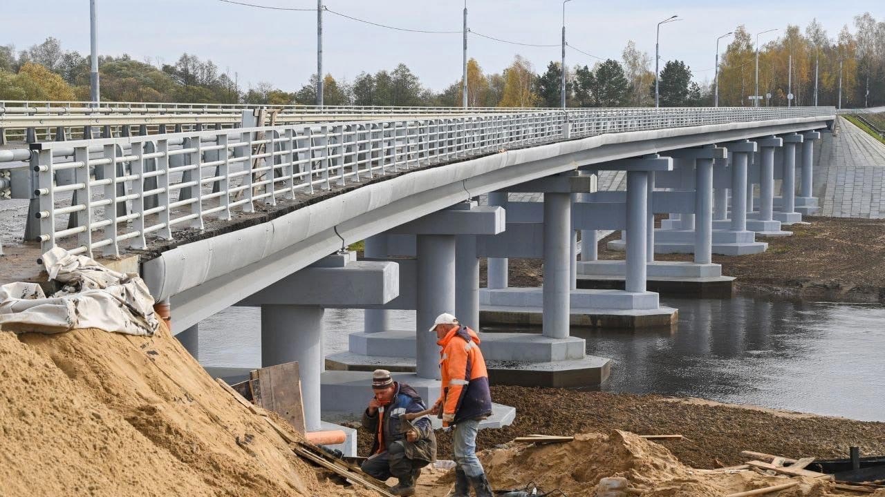
<path id="1" fill-rule="evenodd" d="M 786 229 L 792 236 L 766 238 L 768 249 L 748 256 L 717 256 L 722 274 L 734 276 L 735 293 L 834 302 L 885 303 L 885 219 L 807 217 L 808 224 Z M 607 242 L 599 259 L 623 259 Z M 658 261 L 691 261 L 691 254 L 655 254 Z M 510 286 L 543 282 L 540 259 L 510 259 Z M 485 284 L 485 263 L 481 272 Z"/>

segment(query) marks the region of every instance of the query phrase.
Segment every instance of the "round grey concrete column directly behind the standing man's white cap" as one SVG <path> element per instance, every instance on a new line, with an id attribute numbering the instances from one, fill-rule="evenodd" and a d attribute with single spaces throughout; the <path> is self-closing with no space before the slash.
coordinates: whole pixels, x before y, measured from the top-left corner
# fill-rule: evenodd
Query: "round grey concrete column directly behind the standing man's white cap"
<path id="1" fill-rule="evenodd" d="M 443 312 L 455 313 L 455 235 L 419 234 L 417 238 L 416 372 L 419 378 L 439 379 L 439 346 L 435 333 L 428 330 Z"/>

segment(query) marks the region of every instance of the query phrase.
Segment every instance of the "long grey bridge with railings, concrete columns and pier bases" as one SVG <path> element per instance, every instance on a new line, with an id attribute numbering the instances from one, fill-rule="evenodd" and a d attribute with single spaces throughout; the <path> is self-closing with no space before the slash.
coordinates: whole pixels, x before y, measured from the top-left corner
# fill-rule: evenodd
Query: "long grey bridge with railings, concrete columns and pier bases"
<path id="1" fill-rule="evenodd" d="M 712 253 L 764 250 L 757 236 L 788 236 L 782 226 L 817 210 L 814 142 L 837 115 L 832 107 L 323 108 L 260 126 L 263 116 L 231 106 L 207 110 L 214 121 L 204 122 L 220 123 L 212 129 L 191 121 L 159 133 L 147 128 L 147 107 L 134 121 L 119 107 L 97 116 L 78 108 L 83 116 L 43 126 L 60 126 L 62 139 L 103 126 L 104 137 L 81 130 L 87 139 L 0 151 L 6 187 L 28 199 L 33 220 L 28 242 L 7 249 L 20 260 L 63 247 L 128 261 L 171 307 L 173 333 L 195 355 L 201 320 L 261 307 L 262 361 L 301 363 L 310 429 L 362 409 L 366 370 L 378 366 L 434 398 L 438 357 L 423 332 L 452 310 L 476 329 L 540 325 L 540 333 L 482 333 L 493 382 L 603 381 L 610 363 L 586 356 L 571 328 L 671 326 L 678 311 L 659 304 L 655 286 L 730 292 Z M 174 111 L 166 114 L 200 115 Z M 597 191 L 610 172 L 626 176 L 625 191 Z M 668 219 L 655 229 L 662 213 Z M 624 261 L 596 261 L 597 235 L 609 230 L 623 233 L 615 245 Z M 347 250 L 357 241 L 366 241 L 364 260 Z M 656 250 L 693 253 L 694 262 L 657 262 Z M 489 258 L 483 288 L 481 257 Z M 542 258 L 543 287 L 510 287 L 510 257 Z M 327 308 L 366 310 L 350 351 L 329 358 Z M 402 309 L 416 311 L 417 331 L 389 329 L 386 312 Z M 498 406 L 496 415 L 490 423 L 506 423 L 512 410 Z"/>

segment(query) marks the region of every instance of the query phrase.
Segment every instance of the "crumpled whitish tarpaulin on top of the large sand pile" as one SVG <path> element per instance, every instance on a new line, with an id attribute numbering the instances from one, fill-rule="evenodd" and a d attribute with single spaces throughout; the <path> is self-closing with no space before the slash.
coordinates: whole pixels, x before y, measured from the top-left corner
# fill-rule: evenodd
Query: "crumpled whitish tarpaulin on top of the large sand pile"
<path id="1" fill-rule="evenodd" d="M 154 299 L 135 274 L 112 271 L 86 256 L 52 248 L 42 256 L 50 279 L 64 287 L 46 297 L 36 283 L 0 287 L 0 326 L 12 332 L 63 333 L 77 328 L 152 335 Z"/>

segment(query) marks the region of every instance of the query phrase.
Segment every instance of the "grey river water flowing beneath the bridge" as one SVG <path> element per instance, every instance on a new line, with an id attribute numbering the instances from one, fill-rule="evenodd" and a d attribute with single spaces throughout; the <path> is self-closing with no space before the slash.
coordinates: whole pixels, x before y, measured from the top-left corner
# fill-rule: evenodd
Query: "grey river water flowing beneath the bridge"
<path id="1" fill-rule="evenodd" d="M 587 352 L 612 359 L 610 392 L 692 396 L 885 421 L 885 306 L 827 302 L 663 299 L 673 332 L 573 330 Z M 362 330 L 361 310 L 327 310 L 327 354 Z M 396 328 L 414 312 L 396 311 Z M 200 324 L 204 365 L 258 367 L 260 312 L 232 308 Z"/>

